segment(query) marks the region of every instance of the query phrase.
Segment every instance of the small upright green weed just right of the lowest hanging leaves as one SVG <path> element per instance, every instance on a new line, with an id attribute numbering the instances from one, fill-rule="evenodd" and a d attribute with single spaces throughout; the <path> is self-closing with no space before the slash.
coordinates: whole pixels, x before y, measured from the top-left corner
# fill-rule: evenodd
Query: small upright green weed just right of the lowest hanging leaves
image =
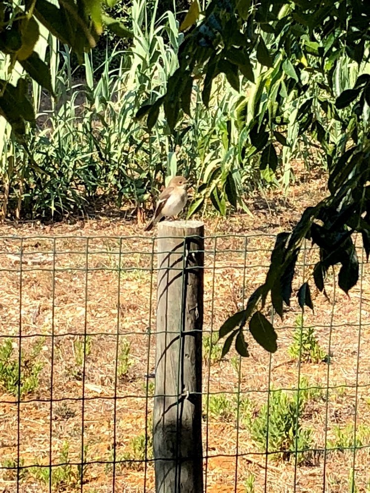
<path id="1" fill-rule="evenodd" d="M 293 334 L 293 344 L 289 348 L 289 355 L 301 361 L 320 363 L 328 359 L 328 355 L 320 347 L 313 327 L 302 327 L 302 315 L 295 321 L 296 330 Z"/>

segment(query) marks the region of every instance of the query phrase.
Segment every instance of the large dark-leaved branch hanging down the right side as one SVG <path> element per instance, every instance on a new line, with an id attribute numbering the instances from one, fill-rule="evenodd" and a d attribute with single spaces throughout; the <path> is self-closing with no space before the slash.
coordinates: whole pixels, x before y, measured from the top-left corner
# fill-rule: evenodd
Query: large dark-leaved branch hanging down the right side
<path id="1" fill-rule="evenodd" d="M 356 284 L 356 233 L 369 257 L 370 8 L 359 0 L 213 0 L 198 13 L 195 3 L 166 93 L 146 101 L 137 117 L 146 115 L 150 130 L 163 106 L 174 131 L 183 112 L 190 112 L 194 81 L 201 81 L 208 106 L 212 84 L 223 73 L 236 91 L 245 88 L 233 108 L 245 138 L 240 162 L 259 155 L 261 172 L 275 172 L 278 159 L 301 136 L 319 149 L 329 172 L 328 196 L 308 208 L 291 233 L 277 236 L 265 283 L 220 329 L 220 337 L 227 336 L 224 355 L 235 342 L 239 354 L 248 356 L 247 322 L 254 339 L 274 352 L 277 335 L 262 312 L 269 296 L 280 316 L 289 305 L 303 241 L 319 247 L 313 282 L 322 292 L 328 269 L 337 264 L 339 287 L 348 293 Z M 341 72 L 349 65 L 356 77 L 343 88 Z M 302 308 L 313 309 L 310 284 L 298 291 Z"/>

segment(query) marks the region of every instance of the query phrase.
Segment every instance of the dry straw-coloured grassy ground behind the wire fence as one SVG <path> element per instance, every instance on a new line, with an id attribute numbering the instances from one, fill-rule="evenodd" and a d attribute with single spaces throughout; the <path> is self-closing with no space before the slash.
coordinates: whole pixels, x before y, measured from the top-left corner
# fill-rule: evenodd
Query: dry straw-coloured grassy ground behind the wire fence
<path id="1" fill-rule="evenodd" d="M 294 224 L 302 208 L 323 195 L 323 184 L 324 179 L 320 177 L 302 179 L 292 188 L 288 202 L 276 192 L 270 194 L 270 212 L 263 200 L 252 197 L 254 219 L 238 216 L 206 220 L 210 237 L 206 239 L 204 331 L 218 330 L 226 317 L 240 308 L 243 281 L 247 298 L 264 280 L 274 235 Z M 4 337 L 14 336 L 12 342 L 17 354 L 20 320 L 21 346 L 26 354 L 40 336 L 45 337 L 39 356 L 44 365 L 39 385 L 19 406 L 20 458 L 25 466 L 34 465 L 36 461 L 49 464 L 51 444 L 52 463 L 57 464 L 63 443 L 67 442 L 68 459 L 72 463 L 81 462 L 83 426 L 87 446 L 85 460 L 93 462 L 84 471 L 84 492 L 112 491 L 112 467 L 101 462 L 112 460 L 114 434 L 118 459 L 135 458 L 132 439 L 145 432 L 146 404 L 149 414 L 152 409 L 152 398 L 150 395 L 146 398 L 145 375 L 154 368 L 155 338 L 149 331 L 155 327 L 153 241 L 150 234 L 138 234 L 141 232 L 136 224 L 109 218 L 73 225 L 2 226 L 1 343 Z M 220 234 L 236 236 L 215 240 L 213 235 Z M 89 236 L 88 245 L 86 236 Z M 121 241 L 121 236 L 131 237 Z M 120 244 L 122 272 L 118 290 L 116 269 Z M 315 251 L 306 254 L 305 279 L 311 274 L 315 256 Z M 300 264 L 295 289 L 303 278 L 303 257 Z M 337 291 L 334 300 L 331 281 L 329 278 L 327 283 L 329 299 L 315 293 L 315 314 L 307 312 L 304 319 L 305 325 L 316 327 L 321 347 L 331 355 L 329 365 L 304 363 L 300 367 L 301 376 L 324 389 L 324 398 L 310 401 L 303 416 L 303 426 L 313 430 L 315 448 L 325 448 L 325 423 L 329 441 L 334 438 L 335 425 L 354 422 L 356 409 L 357 424 L 370 427 L 369 266 L 364 264 L 362 286 L 359 284 L 353 289 L 350 298 Z M 288 355 L 288 348 L 298 313 L 293 301 L 284 320 L 276 320 L 279 349 L 272 357 L 251 338 L 248 340 L 250 358 L 240 363 L 240 392 L 248 396 L 254 415 L 267 401 L 269 389 L 297 388 L 298 366 Z M 90 351 L 86 352 L 83 380 L 83 368 L 76 362 L 76 353 L 81 348 L 84 351 L 81 336 L 85 331 L 90 335 Z M 130 343 L 131 365 L 127 375 L 118 380 L 115 391 L 116 346 L 122 339 Z M 231 352 L 227 359 L 204 366 L 205 393 L 237 391 L 233 356 L 235 353 Z M 0 456 L 2 464 L 9 465 L 17 458 L 18 405 L 14 395 L 1 395 L 1 392 Z M 82 397 L 84 400 L 79 399 Z M 295 475 L 294 457 L 290 461 L 269 458 L 266 469 L 266 456 L 259 454 L 248 429 L 241 422 L 236 426 L 234 419 L 222 421 L 209 417 L 208 433 L 205 420 L 203 436 L 204 455 L 208 456 L 205 464 L 209 492 L 245 492 L 245 481 L 251 474 L 255 476 L 256 492 L 265 491 L 265 485 L 268 492 L 320 492 L 324 477 L 325 491 L 350 491 L 353 451 L 334 451 L 326 460 L 323 453 L 317 453 L 299 466 Z M 368 448 L 357 451 L 355 479 L 359 492 L 368 491 L 369 459 Z M 34 470 L 25 471 L 20 492 L 48 491 L 47 481 L 36 479 Z M 73 466 L 71 474 L 66 476 L 59 487 L 54 485 L 54 491 L 59 488 L 59 491 L 73 492 L 81 488 L 77 467 Z M 142 492 L 144 482 L 146 492 L 153 492 L 151 463 L 146 469 L 140 463 L 117 465 L 117 491 Z M 0 491 L 16 491 L 13 471 L 2 470 Z"/>

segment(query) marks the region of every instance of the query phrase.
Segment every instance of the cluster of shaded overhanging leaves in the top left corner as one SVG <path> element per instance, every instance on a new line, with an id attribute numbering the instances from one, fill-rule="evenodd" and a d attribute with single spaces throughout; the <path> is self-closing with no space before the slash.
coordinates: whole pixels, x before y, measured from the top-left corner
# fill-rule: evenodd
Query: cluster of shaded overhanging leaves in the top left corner
<path id="1" fill-rule="evenodd" d="M 105 0 L 107 7 L 111 0 Z M 131 37 L 121 22 L 104 13 L 100 0 L 22 0 L 0 2 L 0 53 L 8 60 L 8 77 L 0 79 L 0 115 L 15 134 L 25 132 L 25 122 L 34 122 L 35 114 L 28 100 L 27 84 L 19 79 L 11 84 L 11 74 L 18 62 L 40 86 L 53 92 L 50 70 L 35 47 L 41 36 L 40 26 L 62 43 L 70 46 L 80 63 L 105 26 L 118 36 Z"/>

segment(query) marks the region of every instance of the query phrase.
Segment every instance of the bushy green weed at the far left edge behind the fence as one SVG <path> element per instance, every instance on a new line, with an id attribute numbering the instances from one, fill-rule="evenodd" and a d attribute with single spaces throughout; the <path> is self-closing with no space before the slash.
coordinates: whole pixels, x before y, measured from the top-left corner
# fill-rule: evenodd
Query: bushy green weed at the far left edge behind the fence
<path id="1" fill-rule="evenodd" d="M 34 392 L 40 385 L 39 375 L 44 368 L 40 360 L 40 353 L 45 343 L 45 337 L 40 337 L 26 354 L 21 351 L 20 368 L 20 395 L 23 398 Z M 0 346 L 0 387 L 13 396 L 18 395 L 19 361 L 18 355 L 14 355 L 11 339 L 5 339 Z"/>

